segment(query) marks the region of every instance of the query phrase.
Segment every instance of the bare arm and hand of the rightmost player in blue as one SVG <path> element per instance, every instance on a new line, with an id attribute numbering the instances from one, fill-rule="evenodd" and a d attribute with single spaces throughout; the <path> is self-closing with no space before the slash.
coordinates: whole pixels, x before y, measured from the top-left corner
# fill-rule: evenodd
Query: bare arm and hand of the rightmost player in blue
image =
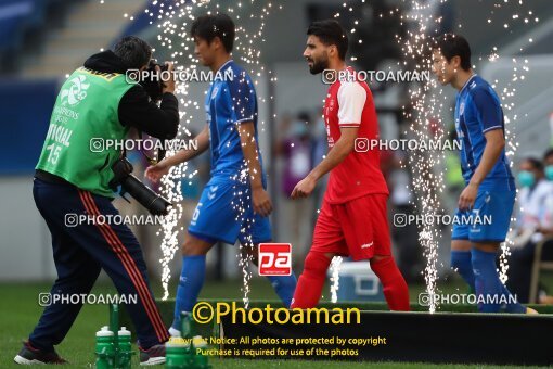
<path id="1" fill-rule="evenodd" d="M 493 168 L 505 148 L 503 129 L 489 130 L 484 136 L 486 137 L 486 147 L 484 148 L 480 164 L 476 167 L 471 181 L 459 198 L 459 208 L 461 211 L 473 208 L 476 195 L 478 194 L 478 187 Z"/>

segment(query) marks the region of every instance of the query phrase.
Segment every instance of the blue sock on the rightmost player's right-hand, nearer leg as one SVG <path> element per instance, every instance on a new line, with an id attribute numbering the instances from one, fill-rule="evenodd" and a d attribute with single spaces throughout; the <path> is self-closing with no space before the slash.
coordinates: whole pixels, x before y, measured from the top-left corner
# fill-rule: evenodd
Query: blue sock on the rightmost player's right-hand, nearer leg
<path id="1" fill-rule="evenodd" d="M 499 279 L 496 266 L 496 253 L 488 253 L 477 249 L 473 249 L 471 253 L 475 276 L 476 296 L 478 300 L 483 300 L 478 303 L 478 311 L 498 313 L 502 307 L 501 303 L 506 302 L 503 305 L 505 311 L 525 313 L 526 307 L 512 302 L 514 301 L 513 296 Z M 490 301 L 487 301 L 488 298 Z"/>

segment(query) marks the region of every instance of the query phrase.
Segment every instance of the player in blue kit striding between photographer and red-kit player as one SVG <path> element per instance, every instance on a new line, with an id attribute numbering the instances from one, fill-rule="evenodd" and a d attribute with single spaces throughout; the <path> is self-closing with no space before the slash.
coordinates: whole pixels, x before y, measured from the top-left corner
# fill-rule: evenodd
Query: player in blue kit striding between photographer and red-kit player
<path id="1" fill-rule="evenodd" d="M 205 258 L 217 242 L 241 242 L 257 264 L 257 245 L 271 241 L 272 204 L 257 138 L 257 97 L 247 73 L 231 59 L 234 23 L 224 14 L 194 21 L 191 36 L 195 54 L 213 71 L 215 80 L 205 100 L 207 124 L 196 137 L 197 150 L 182 150 L 146 169 L 153 181 L 173 165 L 210 148 L 211 178 L 207 183 L 182 245 L 182 271 L 175 320 L 169 333 L 179 335 L 181 311 L 192 311 L 205 277 Z M 229 71 L 232 73 L 229 74 Z M 232 75 L 232 78 L 229 77 Z M 276 294 L 290 306 L 296 277 L 269 277 Z"/>

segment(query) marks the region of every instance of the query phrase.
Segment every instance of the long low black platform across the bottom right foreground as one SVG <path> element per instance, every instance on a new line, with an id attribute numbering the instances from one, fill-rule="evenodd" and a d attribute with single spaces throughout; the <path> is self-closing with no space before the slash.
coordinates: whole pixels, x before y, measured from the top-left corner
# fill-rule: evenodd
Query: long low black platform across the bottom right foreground
<path id="1" fill-rule="evenodd" d="M 295 359 L 408 361 L 435 364 L 553 364 L 553 317 L 490 315 L 471 313 L 384 313 L 361 311 L 360 323 L 350 325 L 232 325 L 222 321 L 226 338 L 340 338 L 356 344 L 280 344 L 287 353 L 303 349 Z M 363 340 L 365 339 L 365 340 Z M 300 342 L 301 340 L 299 340 Z M 364 346 L 358 343 L 365 341 Z M 274 341 L 273 341 L 274 342 Z M 329 341 L 326 341 L 329 342 Z M 373 343 L 373 344 L 371 344 Z M 265 345 L 271 347 L 276 345 Z M 250 344 L 233 345 L 239 352 Z M 314 353 L 305 355 L 317 347 Z M 334 355 L 339 352 L 345 355 Z M 357 355 L 352 355 L 357 351 Z M 284 353 L 284 351 L 280 351 Z M 278 352 L 275 351 L 275 354 Z M 312 352 L 311 352 L 312 353 Z M 240 355 L 239 355 L 240 356 Z M 270 355 L 269 355 L 270 356 Z M 240 356 L 244 357 L 244 355 Z M 267 356 L 266 356 L 267 357 Z M 280 355 L 273 358 L 282 358 Z"/>

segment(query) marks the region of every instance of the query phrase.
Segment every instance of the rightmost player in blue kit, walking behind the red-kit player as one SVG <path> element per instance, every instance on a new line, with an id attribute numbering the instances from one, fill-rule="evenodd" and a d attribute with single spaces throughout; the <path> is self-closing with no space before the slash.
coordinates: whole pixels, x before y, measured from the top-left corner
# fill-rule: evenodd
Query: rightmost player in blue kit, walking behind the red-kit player
<path id="1" fill-rule="evenodd" d="M 458 204 L 461 221 L 453 225 L 451 266 L 476 292 L 479 311 L 536 313 L 516 302 L 499 279 L 496 266 L 516 195 L 505 156 L 501 101 L 491 86 L 474 74 L 471 48 L 460 35 L 447 34 L 435 40 L 433 72 L 441 85 L 459 91 L 455 129 L 466 187 Z"/>

